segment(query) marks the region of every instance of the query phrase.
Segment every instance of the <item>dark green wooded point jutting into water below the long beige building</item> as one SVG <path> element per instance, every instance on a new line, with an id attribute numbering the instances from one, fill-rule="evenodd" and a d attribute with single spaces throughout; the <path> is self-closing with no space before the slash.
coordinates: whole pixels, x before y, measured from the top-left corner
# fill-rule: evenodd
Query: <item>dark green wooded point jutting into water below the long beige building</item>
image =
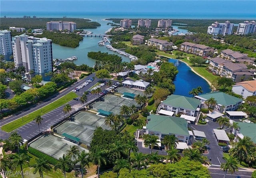
<path id="1" fill-rule="evenodd" d="M 79 42 L 83 40 L 83 37 L 77 34 L 66 34 L 61 32 L 44 31 L 41 35 L 36 35 L 39 38 L 51 39 L 53 43 L 66 47 L 78 47 Z"/>

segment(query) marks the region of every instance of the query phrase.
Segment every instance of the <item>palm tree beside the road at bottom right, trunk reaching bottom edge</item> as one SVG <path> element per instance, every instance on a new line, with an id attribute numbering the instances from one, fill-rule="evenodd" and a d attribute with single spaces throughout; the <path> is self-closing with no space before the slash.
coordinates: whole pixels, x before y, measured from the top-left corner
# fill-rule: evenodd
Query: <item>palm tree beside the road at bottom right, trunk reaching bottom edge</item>
<path id="1" fill-rule="evenodd" d="M 226 160 L 225 163 L 220 164 L 220 168 L 225 171 L 224 178 L 226 178 L 227 173 L 233 174 L 236 170 L 238 170 L 238 161 L 230 156 L 229 158 L 223 157 Z"/>

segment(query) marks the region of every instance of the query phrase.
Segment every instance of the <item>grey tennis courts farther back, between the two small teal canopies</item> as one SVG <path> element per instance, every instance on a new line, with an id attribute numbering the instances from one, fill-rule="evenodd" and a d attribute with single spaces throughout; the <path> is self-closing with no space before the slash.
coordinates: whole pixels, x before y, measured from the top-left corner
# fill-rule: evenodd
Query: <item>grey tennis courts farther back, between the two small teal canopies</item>
<path id="1" fill-rule="evenodd" d="M 112 112 L 114 115 L 118 115 L 120 113 L 120 107 L 122 105 L 126 105 L 128 107 L 135 105 L 136 107 L 139 107 L 135 100 L 126 99 L 115 95 L 106 95 L 102 99 L 104 101 L 98 101 L 92 104 L 90 107 L 92 107 L 92 109 L 95 111 L 102 109 L 104 111 Z"/>

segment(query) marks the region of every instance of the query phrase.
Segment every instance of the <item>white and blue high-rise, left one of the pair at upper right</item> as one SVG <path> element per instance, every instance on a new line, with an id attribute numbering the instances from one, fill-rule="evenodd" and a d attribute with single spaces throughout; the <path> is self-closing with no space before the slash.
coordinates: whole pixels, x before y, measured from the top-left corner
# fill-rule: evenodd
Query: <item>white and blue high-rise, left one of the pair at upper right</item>
<path id="1" fill-rule="evenodd" d="M 214 22 L 211 26 L 208 26 L 207 34 L 212 34 L 214 36 L 220 35 L 230 35 L 233 33 L 234 24 L 226 21 L 225 23 Z"/>

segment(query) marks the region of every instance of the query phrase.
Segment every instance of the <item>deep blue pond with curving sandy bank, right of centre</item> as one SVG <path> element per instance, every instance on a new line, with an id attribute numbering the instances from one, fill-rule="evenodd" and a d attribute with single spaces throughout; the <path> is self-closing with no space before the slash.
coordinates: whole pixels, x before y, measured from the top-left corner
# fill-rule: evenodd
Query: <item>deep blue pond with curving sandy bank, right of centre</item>
<path id="1" fill-rule="evenodd" d="M 174 80 L 175 95 L 183 95 L 192 97 L 188 93 L 198 86 L 202 87 L 203 93 L 209 93 L 211 91 L 210 85 L 202 77 L 196 75 L 186 63 L 179 61 L 178 59 L 169 59 L 169 62 L 174 63 L 177 66 L 178 74 Z"/>

